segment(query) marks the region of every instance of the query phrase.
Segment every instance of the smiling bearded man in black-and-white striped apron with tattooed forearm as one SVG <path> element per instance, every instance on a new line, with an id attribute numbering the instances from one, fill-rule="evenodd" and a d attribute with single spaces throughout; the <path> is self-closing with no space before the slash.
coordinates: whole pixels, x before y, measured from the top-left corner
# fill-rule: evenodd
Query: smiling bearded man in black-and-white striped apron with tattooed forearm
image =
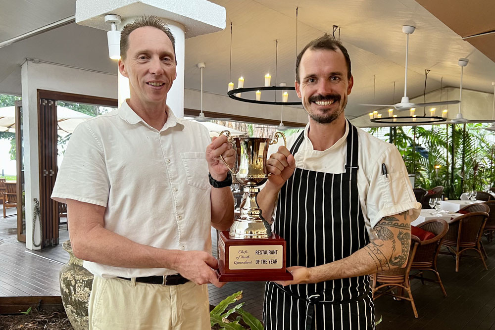
<path id="1" fill-rule="evenodd" d="M 353 83 L 347 49 L 328 35 L 297 56 L 309 123 L 267 160 L 258 194 L 294 276 L 266 283 L 267 330 L 374 329 L 369 274 L 407 261 L 421 204 L 397 148 L 345 118 Z"/>

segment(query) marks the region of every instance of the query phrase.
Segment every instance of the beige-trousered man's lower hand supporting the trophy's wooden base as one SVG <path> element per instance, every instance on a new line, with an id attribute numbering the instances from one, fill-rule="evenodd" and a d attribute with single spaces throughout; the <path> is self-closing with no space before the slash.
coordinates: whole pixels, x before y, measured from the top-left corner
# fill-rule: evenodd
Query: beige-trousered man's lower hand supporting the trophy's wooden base
<path id="1" fill-rule="evenodd" d="M 212 283 L 222 287 L 214 269 L 218 269 L 217 260 L 204 251 L 181 251 L 175 261 L 174 269 L 189 281 L 198 285 Z"/>

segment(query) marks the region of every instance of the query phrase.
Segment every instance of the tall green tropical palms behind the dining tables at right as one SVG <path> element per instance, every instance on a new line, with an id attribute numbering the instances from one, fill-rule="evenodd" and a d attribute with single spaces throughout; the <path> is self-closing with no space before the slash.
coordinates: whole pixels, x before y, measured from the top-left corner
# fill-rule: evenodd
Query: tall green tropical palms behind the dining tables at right
<path id="1" fill-rule="evenodd" d="M 385 134 L 400 151 L 415 186 L 444 186 L 445 196 L 457 199 L 466 190 L 495 184 L 494 134 L 483 124 L 395 127 Z M 380 129 L 371 128 L 371 134 Z M 453 152 L 452 152 L 453 149 Z"/>

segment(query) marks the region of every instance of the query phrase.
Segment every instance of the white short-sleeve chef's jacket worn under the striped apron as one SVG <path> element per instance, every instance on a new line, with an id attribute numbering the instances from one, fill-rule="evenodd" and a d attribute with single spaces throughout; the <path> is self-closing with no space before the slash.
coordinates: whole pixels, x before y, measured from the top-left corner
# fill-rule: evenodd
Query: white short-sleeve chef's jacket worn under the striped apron
<path id="1" fill-rule="evenodd" d="M 346 132 L 334 145 L 324 151 L 313 148 L 308 139 L 309 123 L 304 129 L 304 140 L 295 155 L 298 168 L 330 174 L 345 173 L 347 159 L 347 135 L 349 125 L 346 120 Z M 287 148 L 291 150 L 300 133 L 287 138 Z M 373 137 L 357 128 L 359 141 L 357 188 L 368 232 L 380 219 L 410 210 L 407 220 L 415 220 L 421 211 L 416 201 L 404 161 L 396 146 Z M 268 154 L 278 150 L 284 141 L 279 140 L 270 146 Z M 385 164 L 388 174 L 382 173 Z M 275 217 L 276 207 L 272 217 Z"/>

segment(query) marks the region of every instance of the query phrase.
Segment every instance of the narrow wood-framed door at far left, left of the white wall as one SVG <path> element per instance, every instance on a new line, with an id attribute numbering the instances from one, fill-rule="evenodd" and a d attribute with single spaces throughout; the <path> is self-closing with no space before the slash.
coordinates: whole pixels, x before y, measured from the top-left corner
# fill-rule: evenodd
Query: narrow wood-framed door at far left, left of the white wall
<path id="1" fill-rule="evenodd" d="M 26 207 L 24 206 L 24 140 L 22 101 L 15 101 L 15 160 L 17 165 L 17 240 L 26 242 Z"/>

